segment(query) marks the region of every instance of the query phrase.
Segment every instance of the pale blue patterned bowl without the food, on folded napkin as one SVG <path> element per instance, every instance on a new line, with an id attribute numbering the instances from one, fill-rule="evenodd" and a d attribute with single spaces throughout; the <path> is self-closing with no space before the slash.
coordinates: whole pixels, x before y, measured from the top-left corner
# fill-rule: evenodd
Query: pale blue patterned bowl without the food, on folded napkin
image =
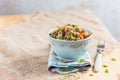
<path id="1" fill-rule="evenodd" d="M 55 29 L 50 30 L 49 34 L 54 30 Z M 86 30 L 92 34 L 89 29 Z M 76 61 L 82 57 L 82 55 L 88 51 L 91 38 L 92 35 L 83 40 L 67 41 L 54 39 L 49 35 L 51 50 L 54 51 L 60 58 L 68 61 Z"/>

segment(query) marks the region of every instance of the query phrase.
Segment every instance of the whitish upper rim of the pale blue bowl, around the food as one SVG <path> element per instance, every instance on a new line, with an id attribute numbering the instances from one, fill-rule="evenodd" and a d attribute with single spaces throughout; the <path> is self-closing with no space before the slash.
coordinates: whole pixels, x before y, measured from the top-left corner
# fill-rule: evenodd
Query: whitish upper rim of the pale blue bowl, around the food
<path id="1" fill-rule="evenodd" d="M 59 41 L 59 42 L 80 42 L 80 41 L 86 41 L 86 40 L 88 40 L 88 39 L 91 39 L 92 38 L 92 36 L 93 36 L 93 31 L 91 31 L 90 29 L 88 29 L 88 28 L 86 28 L 86 27 L 84 27 L 87 31 L 89 31 L 90 33 L 91 33 L 91 36 L 89 36 L 88 38 L 86 38 L 86 39 L 82 39 L 82 40 L 77 40 L 77 41 L 69 41 L 69 40 L 60 40 L 60 39 L 55 39 L 55 38 L 53 38 L 53 37 L 51 37 L 50 36 L 50 33 L 52 32 L 52 31 L 54 31 L 55 30 L 55 28 L 52 28 L 49 32 L 48 32 L 48 37 L 50 38 L 50 39 L 52 39 L 52 40 L 55 40 L 55 41 Z"/>

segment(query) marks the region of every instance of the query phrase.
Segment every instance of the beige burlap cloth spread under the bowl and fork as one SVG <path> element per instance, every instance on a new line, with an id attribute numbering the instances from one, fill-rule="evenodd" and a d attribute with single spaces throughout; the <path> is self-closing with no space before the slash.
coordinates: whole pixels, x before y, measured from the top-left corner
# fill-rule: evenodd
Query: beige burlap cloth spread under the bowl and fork
<path id="1" fill-rule="evenodd" d="M 103 64 L 99 73 L 92 69 L 72 73 L 66 80 L 118 80 L 120 75 L 120 43 L 106 27 L 88 11 L 36 13 L 7 26 L 0 26 L 0 80 L 58 80 L 59 75 L 48 71 L 48 31 L 57 25 L 68 23 L 88 26 L 94 32 L 89 52 L 94 61 L 98 40 L 106 41 Z M 116 61 L 111 61 L 111 58 Z M 89 74 L 93 76 L 89 76 Z M 119 79 L 120 80 L 120 79 Z"/>

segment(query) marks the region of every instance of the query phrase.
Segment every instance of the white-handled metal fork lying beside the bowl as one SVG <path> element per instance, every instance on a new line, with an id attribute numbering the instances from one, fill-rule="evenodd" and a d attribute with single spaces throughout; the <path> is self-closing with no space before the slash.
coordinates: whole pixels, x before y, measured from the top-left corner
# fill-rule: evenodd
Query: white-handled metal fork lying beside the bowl
<path id="1" fill-rule="evenodd" d="M 97 56 L 94 65 L 94 71 L 99 72 L 102 66 L 102 52 L 105 49 L 105 41 L 98 41 Z"/>

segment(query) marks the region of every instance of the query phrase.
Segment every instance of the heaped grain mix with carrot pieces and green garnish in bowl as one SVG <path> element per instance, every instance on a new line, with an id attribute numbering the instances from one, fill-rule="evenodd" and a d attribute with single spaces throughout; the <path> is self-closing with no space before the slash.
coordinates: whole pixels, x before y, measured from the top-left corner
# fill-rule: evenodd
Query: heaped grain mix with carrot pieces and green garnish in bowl
<path id="1" fill-rule="evenodd" d="M 56 27 L 56 29 L 49 35 L 55 39 L 69 41 L 82 40 L 91 36 L 91 34 L 85 28 L 81 28 L 75 24 L 67 24 L 61 27 Z"/>

